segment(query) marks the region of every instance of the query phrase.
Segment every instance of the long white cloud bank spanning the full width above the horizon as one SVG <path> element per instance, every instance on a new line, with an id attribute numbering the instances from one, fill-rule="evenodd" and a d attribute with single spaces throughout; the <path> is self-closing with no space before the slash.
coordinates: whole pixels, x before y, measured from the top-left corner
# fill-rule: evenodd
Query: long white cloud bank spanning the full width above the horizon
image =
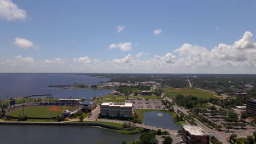
<path id="1" fill-rule="evenodd" d="M 121 47 L 120 44 L 112 44 L 109 49 Z M 32 57 L 16 56 L 12 59 L 0 58 L 1 70 L 9 69 L 9 72 L 17 72 L 20 69 L 45 70 L 46 65 L 55 64 L 53 69 L 72 70 L 71 72 L 102 72 L 105 73 L 250 73 L 256 71 L 256 43 L 253 34 L 246 32 L 240 40 L 234 44 L 219 44 L 212 49 L 206 47 L 183 44 L 172 53 L 155 55 L 148 59 L 139 59 L 146 55 L 139 52 L 135 56 L 126 55 L 123 58 L 113 58 L 102 61 L 90 60 L 88 56 L 73 58 L 73 61 L 63 62 L 61 58 L 46 59 L 36 62 Z M 10 67 L 13 65 L 13 69 Z M 62 65 L 62 67 L 61 67 Z M 69 67 L 72 65 L 72 67 Z M 20 67 L 19 67 L 20 66 Z M 14 70 L 14 71 L 11 71 Z M 16 71 L 15 71 L 16 70 Z M 59 71 L 53 71 L 59 72 Z M 68 71 L 66 71 L 68 72 Z"/>

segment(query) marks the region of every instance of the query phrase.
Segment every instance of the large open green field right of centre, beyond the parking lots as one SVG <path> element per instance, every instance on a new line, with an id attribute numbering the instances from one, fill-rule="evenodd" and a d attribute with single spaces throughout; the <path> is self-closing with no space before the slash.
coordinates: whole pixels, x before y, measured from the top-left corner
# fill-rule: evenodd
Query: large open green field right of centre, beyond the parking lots
<path id="1" fill-rule="evenodd" d="M 217 98 L 216 96 L 214 96 L 214 93 L 196 88 L 162 88 L 162 91 L 164 91 L 164 93 L 172 99 L 178 94 L 182 94 L 184 96 L 193 95 L 203 99 Z"/>

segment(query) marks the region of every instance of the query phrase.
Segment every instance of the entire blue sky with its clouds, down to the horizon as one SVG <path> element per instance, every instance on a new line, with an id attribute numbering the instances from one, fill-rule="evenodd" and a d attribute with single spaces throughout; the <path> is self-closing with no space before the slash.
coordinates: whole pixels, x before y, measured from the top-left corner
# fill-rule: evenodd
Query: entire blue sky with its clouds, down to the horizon
<path id="1" fill-rule="evenodd" d="M 188 67 L 187 73 L 255 73 L 253 35 L 247 35 L 251 41 L 245 40 L 251 43 L 249 51 L 230 53 L 228 49 L 222 53 L 228 59 L 216 57 L 211 50 L 219 44 L 240 50 L 234 46 L 235 41 L 246 32 L 256 33 L 256 1 L 0 0 L 0 3 L 1 73 L 186 73 Z M 118 26 L 123 31 L 117 33 Z M 161 29 L 158 34 L 154 33 L 157 29 Z M 123 45 L 126 51 L 118 48 L 120 43 L 127 44 Z M 111 44 L 113 49 L 109 49 Z M 192 46 L 184 48 L 187 53 L 181 55 L 184 44 Z M 201 48 L 194 49 L 196 46 Z M 200 53 L 202 49 L 207 50 L 205 55 Z M 139 52 L 144 55 L 136 57 Z M 246 58 L 240 61 L 237 57 Z M 206 64 L 198 64 L 201 61 Z M 223 64 L 216 65 L 220 62 Z M 154 67 L 140 69 L 150 63 Z M 179 67 L 184 63 L 190 65 Z M 229 71 L 223 70 L 227 66 Z M 244 70 L 234 72 L 236 67 Z"/>

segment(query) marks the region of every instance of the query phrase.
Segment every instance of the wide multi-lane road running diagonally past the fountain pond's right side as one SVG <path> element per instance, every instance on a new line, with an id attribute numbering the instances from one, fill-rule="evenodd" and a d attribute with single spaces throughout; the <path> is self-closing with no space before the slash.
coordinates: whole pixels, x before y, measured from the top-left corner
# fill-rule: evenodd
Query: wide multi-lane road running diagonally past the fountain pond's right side
<path id="1" fill-rule="evenodd" d="M 169 97 L 164 97 L 165 95 L 164 94 L 162 94 L 161 95 L 161 97 L 165 100 L 168 100 L 168 101 L 170 101 L 170 102 L 172 102 L 173 100 L 171 99 L 171 98 L 169 98 Z M 189 115 L 189 113 L 188 113 L 188 111 L 189 110 L 187 110 L 187 109 L 184 109 L 184 108 L 182 108 L 182 107 L 179 107 L 179 106 L 177 106 L 177 105 L 173 105 L 173 109 L 174 109 L 174 111 L 175 112 L 177 112 L 177 110 L 180 110 L 180 111 L 182 111 L 185 115 Z M 201 123 L 198 119 L 196 119 L 196 118 L 194 118 L 194 121 L 197 123 L 197 126 L 199 126 L 200 128 L 202 128 L 203 130 L 205 130 L 206 131 L 206 133 L 209 133 L 210 135 L 214 135 L 215 137 L 217 137 L 217 139 L 219 140 L 219 141 L 222 141 L 224 144 L 226 143 L 226 144 L 228 144 L 228 142 L 225 140 L 225 138 L 228 136 L 228 135 L 226 135 L 225 133 L 221 133 L 221 132 L 219 132 L 219 131 L 214 131 L 214 130 L 212 130 L 212 129 L 210 129 L 210 128 L 208 128 L 205 124 L 203 124 L 203 123 Z"/>

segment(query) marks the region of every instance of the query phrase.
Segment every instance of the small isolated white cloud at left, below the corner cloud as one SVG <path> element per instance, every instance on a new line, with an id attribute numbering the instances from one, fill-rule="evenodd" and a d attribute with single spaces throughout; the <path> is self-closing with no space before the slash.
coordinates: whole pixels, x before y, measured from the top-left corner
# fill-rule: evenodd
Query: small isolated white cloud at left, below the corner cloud
<path id="1" fill-rule="evenodd" d="M 28 48 L 33 47 L 36 50 L 39 50 L 39 46 L 34 45 L 32 43 L 32 41 L 28 40 L 28 39 L 24 39 L 24 38 L 15 38 L 14 39 L 14 45 L 20 47 L 21 49 L 27 50 Z"/>

